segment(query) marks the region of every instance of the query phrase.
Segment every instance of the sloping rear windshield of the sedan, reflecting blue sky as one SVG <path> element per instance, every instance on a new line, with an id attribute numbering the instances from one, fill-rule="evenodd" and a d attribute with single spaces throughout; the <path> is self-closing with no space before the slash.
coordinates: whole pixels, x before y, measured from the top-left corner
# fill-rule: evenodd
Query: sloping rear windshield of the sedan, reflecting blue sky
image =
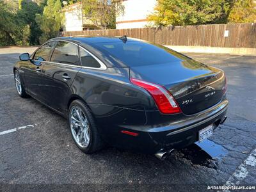
<path id="1" fill-rule="evenodd" d="M 98 43 L 97 45 L 129 67 L 170 63 L 180 61 L 180 57 L 183 58 L 182 55 L 170 49 L 162 49 L 145 42 L 129 42 L 128 40 L 124 43 L 120 40 L 120 42 Z"/>

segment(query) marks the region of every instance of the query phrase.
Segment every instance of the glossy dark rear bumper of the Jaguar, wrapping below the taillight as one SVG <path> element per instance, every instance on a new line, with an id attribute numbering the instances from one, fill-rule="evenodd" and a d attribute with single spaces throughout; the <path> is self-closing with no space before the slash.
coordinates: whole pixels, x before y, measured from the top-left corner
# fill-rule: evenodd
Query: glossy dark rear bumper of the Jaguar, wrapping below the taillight
<path id="1" fill-rule="evenodd" d="M 194 115 L 164 116 L 158 111 L 147 112 L 147 124 L 118 125 L 108 129 L 107 142 L 119 148 L 145 154 L 156 154 L 172 148 L 182 148 L 198 141 L 198 131 L 210 124 L 214 129 L 226 118 L 228 100 Z M 134 116 L 136 118 L 136 116 Z M 138 133 L 138 136 L 121 131 Z"/>

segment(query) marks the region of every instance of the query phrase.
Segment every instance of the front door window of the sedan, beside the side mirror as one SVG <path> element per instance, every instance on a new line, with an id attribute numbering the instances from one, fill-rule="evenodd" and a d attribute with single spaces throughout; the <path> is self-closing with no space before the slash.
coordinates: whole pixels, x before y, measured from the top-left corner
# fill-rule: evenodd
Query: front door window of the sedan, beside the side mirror
<path id="1" fill-rule="evenodd" d="M 47 44 L 42 45 L 42 47 L 40 47 L 36 51 L 34 60 L 49 61 L 53 47 L 54 47 L 54 42 L 49 42 Z"/>

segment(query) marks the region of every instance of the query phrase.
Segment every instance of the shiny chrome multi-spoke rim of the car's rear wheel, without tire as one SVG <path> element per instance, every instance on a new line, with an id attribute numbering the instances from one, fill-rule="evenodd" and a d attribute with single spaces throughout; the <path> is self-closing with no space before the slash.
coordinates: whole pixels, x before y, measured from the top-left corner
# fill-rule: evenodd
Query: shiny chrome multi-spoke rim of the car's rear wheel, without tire
<path id="1" fill-rule="evenodd" d="M 79 106 L 72 106 L 69 114 L 70 129 L 77 145 L 86 148 L 90 142 L 89 123 Z"/>

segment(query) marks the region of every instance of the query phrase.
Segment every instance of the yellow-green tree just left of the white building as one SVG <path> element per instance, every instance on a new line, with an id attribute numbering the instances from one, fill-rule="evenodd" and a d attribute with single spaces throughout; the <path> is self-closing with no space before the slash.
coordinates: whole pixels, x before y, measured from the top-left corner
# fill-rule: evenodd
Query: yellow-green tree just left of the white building
<path id="1" fill-rule="evenodd" d="M 42 30 L 40 42 L 57 36 L 61 26 L 63 26 L 64 19 L 64 13 L 61 12 L 61 1 L 48 0 L 43 14 L 36 14 L 36 22 Z"/>

